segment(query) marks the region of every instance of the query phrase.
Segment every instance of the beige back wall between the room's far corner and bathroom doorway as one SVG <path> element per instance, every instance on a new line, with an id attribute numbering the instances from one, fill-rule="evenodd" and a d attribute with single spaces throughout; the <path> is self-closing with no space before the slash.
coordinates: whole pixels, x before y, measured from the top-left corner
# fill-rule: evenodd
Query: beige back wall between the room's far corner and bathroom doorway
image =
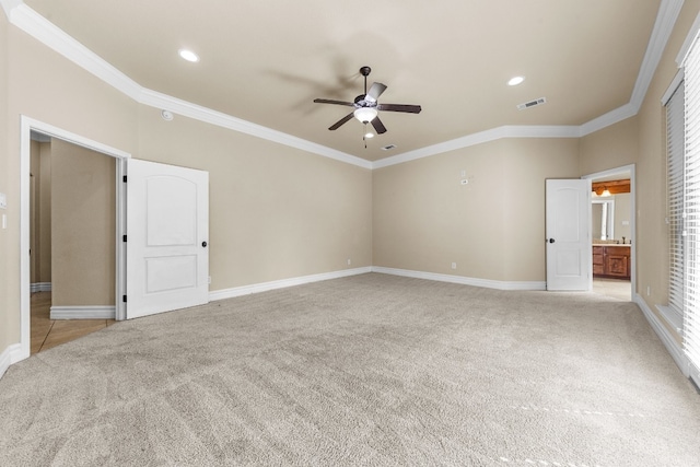
<path id="1" fill-rule="evenodd" d="M 576 139 L 503 139 L 374 171 L 374 265 L 545 280 L 545 179 L 578 157 Z"/>

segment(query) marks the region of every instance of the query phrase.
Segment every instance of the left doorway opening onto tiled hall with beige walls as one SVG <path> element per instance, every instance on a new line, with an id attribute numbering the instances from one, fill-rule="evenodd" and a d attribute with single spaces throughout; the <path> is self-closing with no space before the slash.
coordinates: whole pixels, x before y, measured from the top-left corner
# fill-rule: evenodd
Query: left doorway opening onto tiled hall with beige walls
<path id="1" fill-rule="evenodd" d="M 36 131 L 31 139 L 30 327 L 37 353 L 114 323 L 116 190 L 113 157 Z"/>

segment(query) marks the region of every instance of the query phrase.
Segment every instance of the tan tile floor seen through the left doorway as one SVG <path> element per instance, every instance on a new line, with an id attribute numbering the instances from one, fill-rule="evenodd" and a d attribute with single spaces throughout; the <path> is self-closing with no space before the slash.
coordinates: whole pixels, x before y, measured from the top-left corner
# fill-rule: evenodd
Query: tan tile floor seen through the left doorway
<path id="1" fill-rule="evenodd" d="M 114 319 L 51 319 L 51 292 L 33 293 L 31 307 L 30 353 L 37 353 L 60 343 L 70 342 L 115 323 Z"/>

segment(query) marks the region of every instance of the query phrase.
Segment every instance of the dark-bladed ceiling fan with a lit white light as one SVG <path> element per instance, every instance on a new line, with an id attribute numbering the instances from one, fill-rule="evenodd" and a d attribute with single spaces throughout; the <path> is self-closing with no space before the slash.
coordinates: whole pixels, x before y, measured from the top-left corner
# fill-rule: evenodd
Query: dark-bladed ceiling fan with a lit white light
<path id="1" fill-rule="evenodd" d="M 410 105 L 410 104 L 380 104 L 377 100 L 382 95 L 384 91 L 386 91 L 386 85 L 382 83 L 374 83 L 372 87 L 370 87 L 370 92 L 368 92 L 368 75 L 372 69 L 370 67 L 360 68 L 360 74 L 364 77 L 364 94 L 360 94 L 354 98 L 354 102 L 345 102 L 345 101 L 334 101 L 329 98 L 315 98 L 314 102 L 317 104 L 336 104 L 336 105 L 347 105 L 350 107 L 354 107 L 350 114 L 342 117 L 340 120 L 336 121 L 328 129 L 337 130 L 341 125 L 351 120 L 352 117 L 360 120 L 362 124 L 372 124 L 374 130 L 378 133 L 385 133 L 386 127 L 380 120 L 377 116 L 378 110 L 387 110 L 387 112 L 405 112 L 409 114 L 420 114 L 420 105 Z"/>

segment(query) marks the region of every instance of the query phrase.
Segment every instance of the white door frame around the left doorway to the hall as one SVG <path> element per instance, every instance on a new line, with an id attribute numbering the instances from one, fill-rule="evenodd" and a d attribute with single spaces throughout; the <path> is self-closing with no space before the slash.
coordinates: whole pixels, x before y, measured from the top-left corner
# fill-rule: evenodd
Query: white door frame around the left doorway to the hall
<path id="1" fill-rule="evenodd" d="M 19 360 L 30 357 L 31 349 L 31 265 L 30 265 L 30 160 L 32 131 L 37 131 L 52 138 L 90 149 L 115 159 L 116 164 L 116 222 L 115 222 L 115 317 L 125 316 L 125 304 L 118 300 L 126 288 L 126 248 L 121 242 L 121 232 L 126 225 L 126 189 L 121 179 L 125 172 L 125 161 L 131 154 L 120 149 L 103 144 L 89 138 L 75 135 L 50 124 L 21 115 L 20 122 L 20 355 Z"/>

